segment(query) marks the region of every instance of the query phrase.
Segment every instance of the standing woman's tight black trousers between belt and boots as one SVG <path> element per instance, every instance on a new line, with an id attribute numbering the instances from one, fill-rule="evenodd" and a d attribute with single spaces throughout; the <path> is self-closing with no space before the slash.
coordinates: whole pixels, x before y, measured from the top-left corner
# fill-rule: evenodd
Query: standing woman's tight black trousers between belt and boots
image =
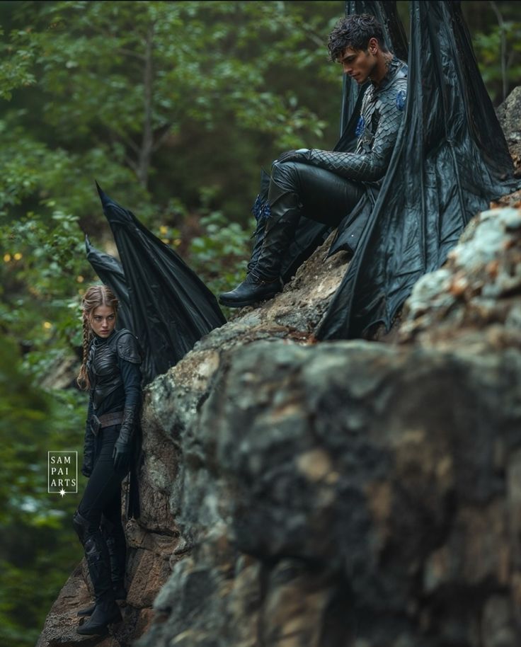
<path id="1" fill-rule="evenodd" d="M 113 525 L 115 532 L 123 532 L 121 523 L 121 481 L 126 471 L 115 471 L 113 465 L 114 443 L 118 440 L 121 425 L 100 430 L 96 437 L 96 459 L 88 479 L 78 512 L 88 520 L 86 538 L 94 534 L 104 520 Z"/>

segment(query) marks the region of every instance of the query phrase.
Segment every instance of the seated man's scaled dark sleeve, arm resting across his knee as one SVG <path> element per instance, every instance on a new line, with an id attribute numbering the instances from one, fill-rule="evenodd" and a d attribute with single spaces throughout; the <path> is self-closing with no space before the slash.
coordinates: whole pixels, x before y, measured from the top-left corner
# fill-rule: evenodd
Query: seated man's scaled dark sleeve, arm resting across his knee
<path id="1" fill-rule="evenodd" d="M 370 151 L 343 153 L 311 149 L 308 163 L 350 180 L 374 182 L 382 179 L 389 167 L 403 117 L 403 94 L 389 94 L 391 96 L 382 99 L 379 105 L 379 121 Z"/>

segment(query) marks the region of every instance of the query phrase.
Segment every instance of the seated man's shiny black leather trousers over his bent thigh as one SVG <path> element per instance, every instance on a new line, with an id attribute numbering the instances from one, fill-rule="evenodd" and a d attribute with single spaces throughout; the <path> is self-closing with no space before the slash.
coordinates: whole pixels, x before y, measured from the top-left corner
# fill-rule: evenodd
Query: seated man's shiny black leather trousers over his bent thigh
<path id="1" fill-rule="evenodd" d="M 302 216 L 330 227 L 337 227 L 365 193 L 360 182 L 302 162 L 275 161 L 271 178 L 280 188 L 297 193 L 302 204 Z M 268 192 L 271 204 L 270 193 L 273 193 L 271 187 Z"/>

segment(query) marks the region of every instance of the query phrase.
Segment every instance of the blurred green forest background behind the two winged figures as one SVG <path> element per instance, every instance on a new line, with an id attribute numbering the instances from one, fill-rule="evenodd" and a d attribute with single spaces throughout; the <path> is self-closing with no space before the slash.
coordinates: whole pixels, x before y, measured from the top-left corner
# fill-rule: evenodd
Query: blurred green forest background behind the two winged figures
<path id="1" fill-rule="evenodd" d="M 408 30 L 408 2 L 398 2 Z M 521 79 L 521 9 L 463 1 L 495 105 Z M 217 294 L 241 280 L 260 168 L 331 149 L 342 0 L 0 2 L 0 646 L 35 643 L 81 559 L 79 494 L 47 452 L 83 445 L 84 235 L 116 254 L 94 181 Z M 225 313 L 229 314 L 229 313 Z M 80 461 L 81 464 L 81 461 Z"/>

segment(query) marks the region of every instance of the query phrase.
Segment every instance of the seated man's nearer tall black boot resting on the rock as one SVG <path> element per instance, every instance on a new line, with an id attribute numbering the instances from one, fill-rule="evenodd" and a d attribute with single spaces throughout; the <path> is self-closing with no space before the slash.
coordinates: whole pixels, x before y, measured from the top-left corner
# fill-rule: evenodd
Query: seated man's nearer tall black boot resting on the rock
<path id="1" fill-rule="evenodd" d="M 272 297 L 282 290 L 282 259 L 293 239 L 302 214 L 299 195 L 273 181 L 270 183 L 270 216 L 266 222 L 263 244 L 254 268 L 231 292 L 219 295 L 219 302 L 229 308 L 242 308 Z"/>

